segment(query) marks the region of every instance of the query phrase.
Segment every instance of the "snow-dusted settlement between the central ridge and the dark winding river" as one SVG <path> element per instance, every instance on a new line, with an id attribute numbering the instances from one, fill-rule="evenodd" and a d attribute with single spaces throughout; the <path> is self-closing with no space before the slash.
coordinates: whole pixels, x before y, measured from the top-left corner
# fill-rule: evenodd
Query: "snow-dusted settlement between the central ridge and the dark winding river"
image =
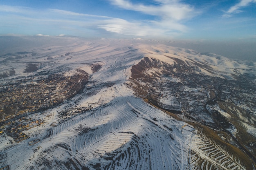
<path id="1" fill-rule="evenodd" d="M 180 77 L 178 81 L 177 77 Z M 153 98 L 153 100 L 158 101 L 159 106 L 168 110 L 182 109 L 200 112 L 204 110 L 204 104 L 211 99 L 210 91 L 216 91 L 220 83 L 218 77 L 173 73 L 173 75 L 157 77 L 156 81 L 150 79 L 148 82 L 147 79 L 139 79 L 136 83 L 135 80 L 130 80 L 130 83 L 125 85 L 135 91 L 135 94 L 147 94 L 144 96 L 145 98 Z M 141 86 L 141 84 L 146 85 Z"/>

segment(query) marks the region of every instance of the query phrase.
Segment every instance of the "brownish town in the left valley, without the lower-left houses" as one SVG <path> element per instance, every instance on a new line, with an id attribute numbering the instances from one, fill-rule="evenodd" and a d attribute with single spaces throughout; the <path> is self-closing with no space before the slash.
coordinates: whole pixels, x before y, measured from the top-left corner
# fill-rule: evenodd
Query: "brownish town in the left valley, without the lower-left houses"
<path id="1" fill-rule="evenodd" d="M 56 74 L 46 79 L 31 78 L 0 84 L 1 120 L 44 111 L 72 97 L 82 88 L 78 88 L 76 83 L 78 80 L 81 81 L 81 77 L 73 77 L 75 79 Z"/>

